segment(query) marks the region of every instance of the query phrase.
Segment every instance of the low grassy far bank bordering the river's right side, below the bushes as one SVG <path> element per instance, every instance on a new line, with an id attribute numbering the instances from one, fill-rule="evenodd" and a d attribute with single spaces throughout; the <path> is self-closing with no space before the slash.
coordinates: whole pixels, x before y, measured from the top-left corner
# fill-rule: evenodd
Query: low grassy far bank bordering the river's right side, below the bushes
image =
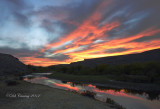
<path id="1" fill-rule="evenodd" d="M 72 75 L 54 72 L 50 78 L 60 79 L 74 83 L 93 84 L 100 87 L 129 89 L 135 91 L 160 92 L 160 85 L 149 83 L 131 83 L 110 80 L 106 75 Z"/>

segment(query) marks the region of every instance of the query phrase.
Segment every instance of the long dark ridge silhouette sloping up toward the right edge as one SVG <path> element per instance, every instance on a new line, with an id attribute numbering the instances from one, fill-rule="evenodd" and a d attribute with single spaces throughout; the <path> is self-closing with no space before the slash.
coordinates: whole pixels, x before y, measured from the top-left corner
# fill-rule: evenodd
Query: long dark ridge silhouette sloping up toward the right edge
<path id="1" fill-rule="evenodd" d="M 84 61 L 71 63 L 69 64 L 69 66 L 84 65 L 92 67 L 98 64 L 115 65 L 115 64 L 130 64 L 136 62 L 148 62 L 148 61 L 160 62 L 160 49 L 154 49 L 137 54 L 85 59 Z"/>

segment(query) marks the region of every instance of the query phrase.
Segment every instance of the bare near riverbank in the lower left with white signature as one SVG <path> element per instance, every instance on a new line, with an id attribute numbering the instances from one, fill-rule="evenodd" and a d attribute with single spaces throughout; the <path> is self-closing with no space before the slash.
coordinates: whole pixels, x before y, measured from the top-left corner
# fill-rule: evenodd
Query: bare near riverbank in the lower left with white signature
<path id="1" fill-rule="evenodd" d="M 111 109 L 110 104 L 76 93 L 16 80 L 8 84 L 1 80 L 2 109 Z M 114 108 L 112 108 L 114 109 Z"/>

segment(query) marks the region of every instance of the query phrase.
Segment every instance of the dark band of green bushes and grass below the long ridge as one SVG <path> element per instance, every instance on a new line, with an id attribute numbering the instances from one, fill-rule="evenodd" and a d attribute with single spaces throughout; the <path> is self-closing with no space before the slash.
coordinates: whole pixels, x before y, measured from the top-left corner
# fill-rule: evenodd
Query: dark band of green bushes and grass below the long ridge
<path id="1" fill-rule="evenodd" d="M 160 84 L 160 63 L 158 62 L 131 63 L 122 65 L 101 64 L 95 67 L 83 65 L 59 65 L 55 66 L 53 69 L 55 72 L 64 73 L 63 75 L 66 78 L 76 78 L 76 80 L 79 80 L 78 76 L 80 76 L 81 80 L 84 81 L 86 78 L 89 78 L 88 80 L 92 81 L 94 79 L 94 81 L 104 83 L 107 79 L 111 79 L 123 82 Z M 67 76 L 66 74 L 70 76 Z M 59 77 L 59 75 L 60 74 L 56 76 Z"/>

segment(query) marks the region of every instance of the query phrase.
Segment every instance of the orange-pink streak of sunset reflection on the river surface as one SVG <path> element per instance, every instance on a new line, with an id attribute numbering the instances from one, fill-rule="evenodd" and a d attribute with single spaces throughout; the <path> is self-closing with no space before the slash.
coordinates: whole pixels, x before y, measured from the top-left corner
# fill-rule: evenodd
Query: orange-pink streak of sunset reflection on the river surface
<path id="1" fill-rule="evenodd" d="M 113 89 L 101 90 L 101 89 L 96 88 L 96 86 L 92 84 L 75 85 L 72 82 L 66 82 L 66 83 L 63 83 L 61 81 L 55 82 L 55 80 L 49 79 L 47 77 L 36 77 L 33 79 L 25 78 L 24 80 L 32 81 L 32 82 L 36 80 L 47 80 L 47 82 L 52 83 L 52 85 L 56 86 L 57 88 L 76 91 L 78 93 L 82 93 L 83 91 L 90 91 L 90 92 L 95 92 L 95 93 L 109 94 L 113 96 L 123 96 L 123 97 L 132 98 L 132 99 L 143 100 L 143 98 L 127 94 L 124 89 L 121 89 L 120 91 L 116 91 Z"/>

